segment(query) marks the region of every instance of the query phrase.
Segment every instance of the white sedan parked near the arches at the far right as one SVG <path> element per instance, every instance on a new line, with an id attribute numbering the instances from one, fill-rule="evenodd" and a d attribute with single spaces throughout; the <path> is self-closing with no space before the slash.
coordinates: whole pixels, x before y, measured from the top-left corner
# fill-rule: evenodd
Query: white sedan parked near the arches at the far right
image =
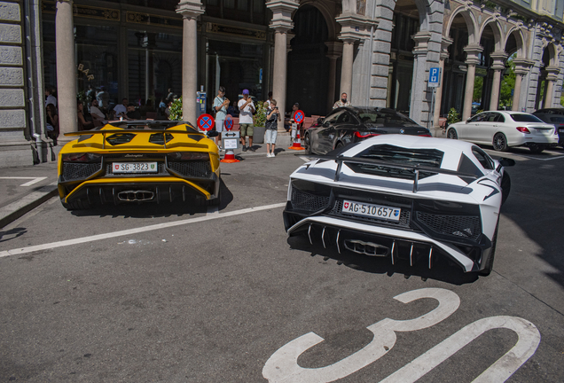
<path id="1" fill-rule="evenodd" d="M 527 146 L 531 152 L 543 152 L 558 145 L 558 132 L 537 116 L 521 112 L 482 112 L 466 121 L 453 123 L 447 137 L 480 145 L 493 145 L 499 152 L 509 146 Z"/>

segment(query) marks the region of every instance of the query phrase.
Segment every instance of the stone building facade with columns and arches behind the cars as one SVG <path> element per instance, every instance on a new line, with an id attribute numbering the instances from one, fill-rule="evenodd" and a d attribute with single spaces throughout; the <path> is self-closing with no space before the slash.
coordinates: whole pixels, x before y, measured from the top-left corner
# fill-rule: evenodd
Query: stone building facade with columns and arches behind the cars
<path id="1" fill-rule="evenodd" d="M 102 86 L 114 103 L 184 95 L 188 121 L 196 91 L 213 98 L 220 84 L 232 101 L 272 90 L 308 115 L 346 92 L 429 127 L 451 108 L 497 109 L 507 83 L 506 108 L 560 106 L 563 11 L 564 0 L 0 1 L 0 163 L 51 160 L 45 86 L 61 132 L 76 129 L 76 98 Z"/>

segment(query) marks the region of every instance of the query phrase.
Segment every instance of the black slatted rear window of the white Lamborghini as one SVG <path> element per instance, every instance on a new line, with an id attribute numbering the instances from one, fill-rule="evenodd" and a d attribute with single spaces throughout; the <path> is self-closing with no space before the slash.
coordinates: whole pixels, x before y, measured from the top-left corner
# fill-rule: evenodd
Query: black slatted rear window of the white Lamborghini
<path id="1" fill-rule="evenodd" d="M 407 165 L 441 168 L 444 153 L 436 149 L 408 149 L 394 145 L 373 145 L 355 157 Z"/>

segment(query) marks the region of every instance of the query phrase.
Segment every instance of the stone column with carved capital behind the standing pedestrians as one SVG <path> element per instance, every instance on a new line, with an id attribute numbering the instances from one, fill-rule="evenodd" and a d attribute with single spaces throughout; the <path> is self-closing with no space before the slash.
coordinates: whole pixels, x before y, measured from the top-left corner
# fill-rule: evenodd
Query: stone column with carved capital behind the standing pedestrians
<path id="1" fill-rule="evenodd" d="M 266 7 L 272 11 L 270 27 L 274 29 L 274 65 L 272 68 L 272 98 L 278 103 L 278 110 L 286 112 L 286 79 L 287 79 L 287 33 L 294 27 L 292 12 L 298 9 L 294 0 L 270 0 Z M 283 120 L 284 121 L 284 120 Z M 278 124 L 278 131 L 284 132 L 284 123 Z"/>

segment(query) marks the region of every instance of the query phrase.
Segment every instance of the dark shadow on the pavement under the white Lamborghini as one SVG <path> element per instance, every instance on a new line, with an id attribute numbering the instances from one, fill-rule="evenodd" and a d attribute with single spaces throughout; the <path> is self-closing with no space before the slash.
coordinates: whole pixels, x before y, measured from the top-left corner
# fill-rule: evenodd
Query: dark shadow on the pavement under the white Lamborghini
<path id="1" fill-rule="evenodd" d="M 404 277 L 431 278 L 451 285 L 464 285 L 473 283 L 478 279 L 477 273 L 465 273 L 457 265 L 444 258 L 435 258 L 433 267 L 429 270 L 427 262 L 417 262 L 411 267 L 409 260 L 397 258 L 395 259 L 395 264 L 392 264 L 389 256 L 372 257 L 342 249 L 341 254 L 339 254 L 333 246 L 324 248 L 315 242 L 313 245 L 310 245 L 309 239 L 305 236 L 289 237 L 287 242 L 292 249 L 308 252 L 311 256 L 323 257 L 324 261 L 332 259 L 337 264 L 342 263 L 351 269 L 372 274 L 388 274 L 388 277 L 391 277 L 398 273 L 403 274 Z"/>

